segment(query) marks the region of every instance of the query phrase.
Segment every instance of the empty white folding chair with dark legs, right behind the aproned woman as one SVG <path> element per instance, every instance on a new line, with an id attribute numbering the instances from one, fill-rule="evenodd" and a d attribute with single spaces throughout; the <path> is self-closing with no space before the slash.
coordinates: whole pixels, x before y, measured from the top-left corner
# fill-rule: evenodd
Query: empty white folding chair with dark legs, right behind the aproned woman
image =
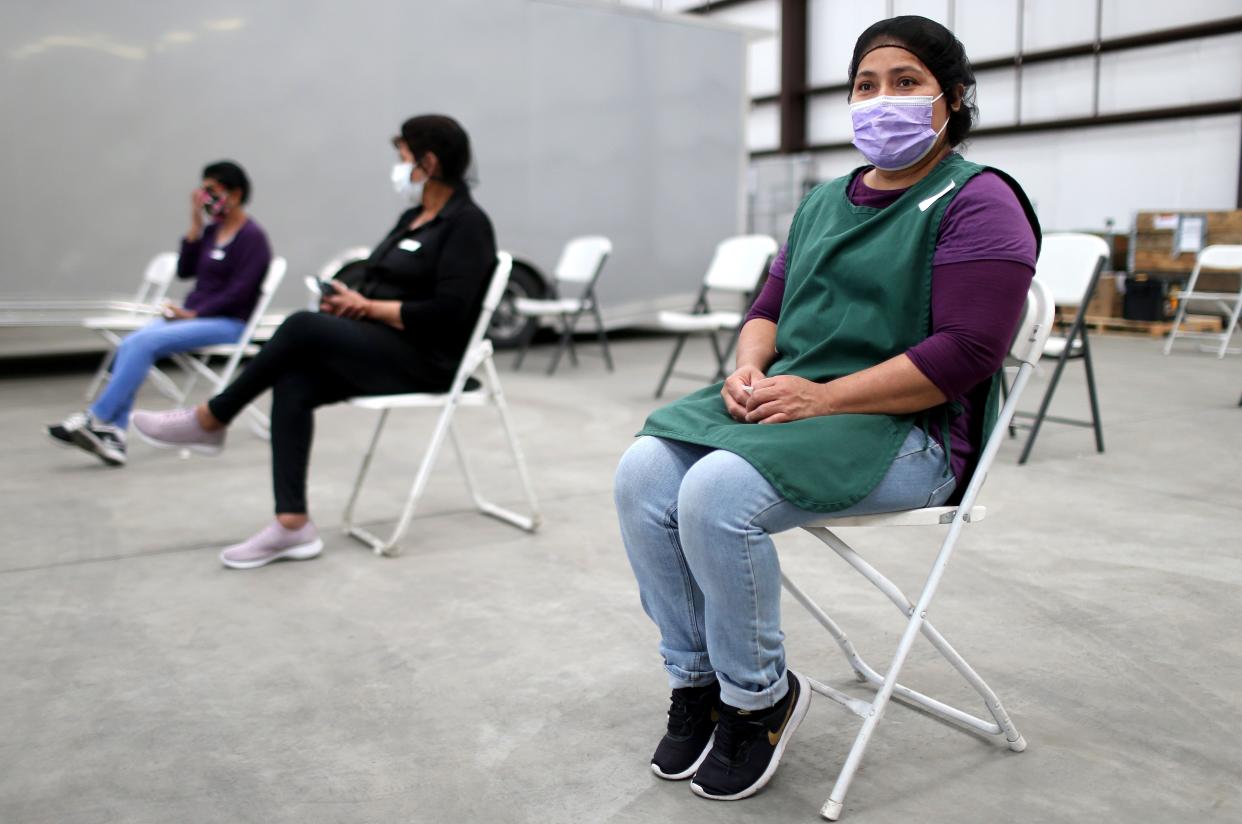
<path id="1" fill-rule="evenodd" d="M 1048 287 L 1052 302 L 1062 307 L 1077 307 L 1074 319 L 1069 323 L 1069 329 L 1064 336 L 1051 334 L 1043 347 L 1045 358 L 1056 358 L 1057 365 L 1052 370 L 1052 379 L 1043 391 L 1040 401 L 1040 410 L 1036 413 L 1017 411 L 1015 418 L 1030 418 L 1031 434 L 1026 439 L 1018 464 L 1026 464 L 1035 446 L 1035 439 L 1040 434 L 1043 421 L 1051 420 L 1057 424 L 1071 426 L 1090 426 L 1095 430 L 1095 451 L 1104 451 L 1104 426 L 1099 418 L 1099 399 L 1095 393 L 1095 369 L 1090 359 L 1090 342 L 1087 339 L 1087 303 L 1095 293 L 1095 285 L 1099 283 L 1100 272 L 1108 263 L 1109 249 L 1102 237 L 1083 232 L 1054 232 L 1043 236 L 1040 260 L 1035 265 L 1035 280 Z M 1061 373 L 1069 360 L 1082 360 L 1087 377 L 1087 399 L 1090 401 L 1090 420 L 1078 420 L 1077 418 L 1059 418 L 1048 414 L 1048 405 L 1052 395 L 1057 391 L 1061 382 Z M 1015 424 L 1015 426 L 1020 426 Z M 1027 428 L 1022 424 L 1021 428 Z M 1013 428 L 1010 428 L 1011 431 Z"/>

